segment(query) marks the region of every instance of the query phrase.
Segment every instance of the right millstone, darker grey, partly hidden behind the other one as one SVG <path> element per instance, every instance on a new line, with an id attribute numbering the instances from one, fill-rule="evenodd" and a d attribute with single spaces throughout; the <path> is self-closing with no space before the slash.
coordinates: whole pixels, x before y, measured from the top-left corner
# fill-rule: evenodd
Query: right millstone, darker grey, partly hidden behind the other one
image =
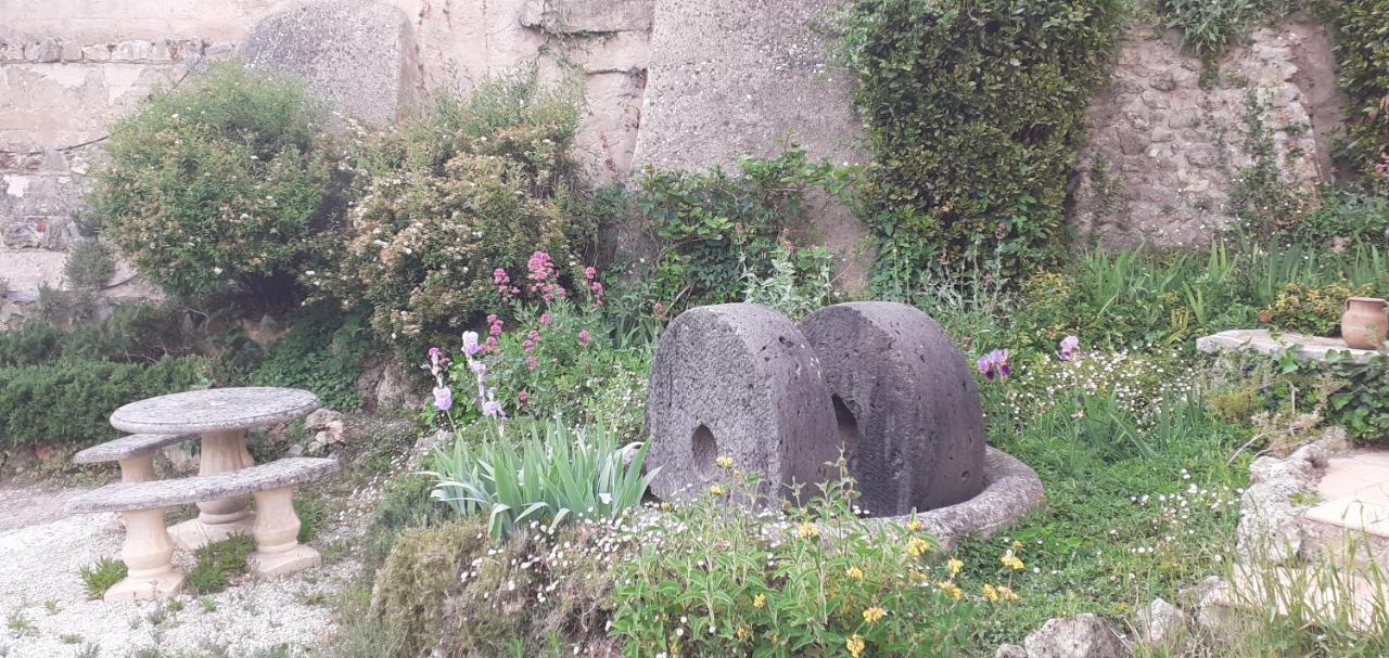
<path id="1" fill-rule="evenodd" d="M 983 489 L 979 391 L 936 321 L 906 304 L 857 301 L 821 308 L 800 328 L 833 394 L 858 507 L 895 516 Z"/>

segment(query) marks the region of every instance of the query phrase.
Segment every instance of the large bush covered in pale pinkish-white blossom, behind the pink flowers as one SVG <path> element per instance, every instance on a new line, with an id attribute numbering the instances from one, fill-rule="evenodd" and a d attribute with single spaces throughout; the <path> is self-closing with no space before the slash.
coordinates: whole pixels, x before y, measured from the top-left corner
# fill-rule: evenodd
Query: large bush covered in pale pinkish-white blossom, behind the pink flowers
<path id="1" fill-rule="evenodd" d="M 596 230 L 568 153 L 578 99 L 513 75 L 372 140 L 365 194 L 324 246 L 333 268 L 306 273 L 317 294 L 369 303 L 376 336 L 410 354 L 501 305 L 494 268 L 522 271 L 536 250 L 578 262 Z"/>

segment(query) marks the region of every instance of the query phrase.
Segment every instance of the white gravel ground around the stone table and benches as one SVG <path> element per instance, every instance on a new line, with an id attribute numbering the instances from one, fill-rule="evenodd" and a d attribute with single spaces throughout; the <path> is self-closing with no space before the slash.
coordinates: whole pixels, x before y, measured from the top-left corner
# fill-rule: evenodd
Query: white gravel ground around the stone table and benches
<path id="1" fill-rule="evenodd" d="M 6 487 L 0 489 L 0 509 L 53 508 L 54 500 L 71 494 L 53 487 Z M 313 541 L 317 548 L 350 543 L 343 530 L 358 523 L 343 523 L 343 516 L 336 523 L 325 519 L 329 528 Z M 0 526 L 6 528 L 0 529 L 0 615 L 6 619 L 0 657 L 6 658 L 308 655 L 333 632 L 333 594 L 358 569 L 353 559 L 336 558 L 285 579 L 244 577 L 207 597 L 107 604 L 88 600 L 78 571 L 101 557 L 119 557 L 122 534 L 115 515 L 54 519 L 44 514 L 31 519 L 36 522 L 22 528 Z M 343 551 L 325 552 L 331 558 Z M 186 572 L 193 558 L 178 551 L 174 561 Z"/>

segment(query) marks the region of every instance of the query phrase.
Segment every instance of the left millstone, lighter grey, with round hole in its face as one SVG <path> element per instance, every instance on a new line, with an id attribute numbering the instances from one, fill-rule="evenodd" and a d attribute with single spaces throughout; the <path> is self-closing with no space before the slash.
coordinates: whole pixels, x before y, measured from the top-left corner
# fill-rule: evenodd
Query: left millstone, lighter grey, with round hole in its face
<path id="1" fill-rule="evenodd" d="M 782 314 L 757 304 L 685 311 L 661 335 L 646 396 L 651 491 L 690 498 L 726 479 L 715 458 L 764 476 L 761 496 L 790 497 L 792 482 L 833 476 L 835 411 L 806 337 Z M 778 489 L 781 489 L 778 491 Z"/>

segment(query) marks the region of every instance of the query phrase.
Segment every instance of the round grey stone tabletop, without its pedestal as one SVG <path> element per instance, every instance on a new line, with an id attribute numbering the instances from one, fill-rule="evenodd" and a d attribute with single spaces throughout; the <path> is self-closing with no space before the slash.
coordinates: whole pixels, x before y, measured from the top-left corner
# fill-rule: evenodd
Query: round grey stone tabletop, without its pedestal
<path id="1" fill-rule="evenodd" d="M 111 414 L 111 426 L 150 435 L 229 432 L 293 421 L 319 407 L 317 396 L 299 389 L 193 390 L 126 404 Z"/>

